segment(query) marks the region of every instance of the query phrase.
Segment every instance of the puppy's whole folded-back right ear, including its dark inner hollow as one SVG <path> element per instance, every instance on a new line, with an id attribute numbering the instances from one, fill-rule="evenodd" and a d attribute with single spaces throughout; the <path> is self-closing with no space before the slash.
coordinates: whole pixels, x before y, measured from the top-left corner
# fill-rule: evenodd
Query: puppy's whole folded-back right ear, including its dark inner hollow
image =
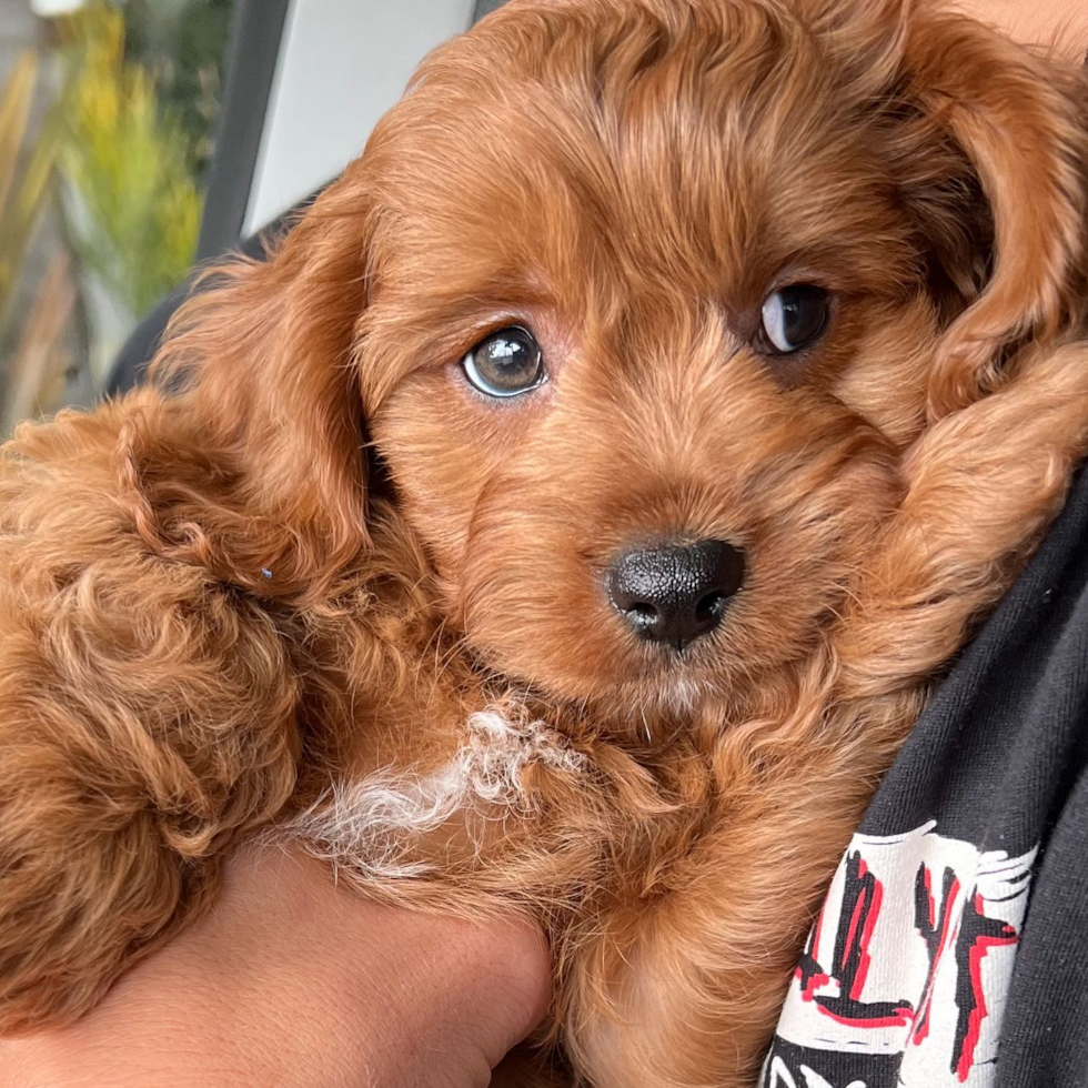
<path id="1" fill-rule="evenodd" d="M 1025 338 L 1082 301 L 1082 73 L 931 0 L 804 0 L 814 29 L 884 113 L 896 181 L 959 309 L 937 352 L 929 414 L 969 404 Z M 974 203 L 974 206 L 973 206 Z"/>

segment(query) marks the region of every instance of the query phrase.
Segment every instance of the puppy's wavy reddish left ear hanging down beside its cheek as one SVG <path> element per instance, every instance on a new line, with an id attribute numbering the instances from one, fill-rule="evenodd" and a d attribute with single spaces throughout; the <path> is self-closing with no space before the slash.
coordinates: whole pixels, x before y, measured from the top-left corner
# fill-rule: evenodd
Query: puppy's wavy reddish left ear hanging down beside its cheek
<path id="1" fill-rule="evenodd" d="M 353 346 L 367 204 L 357 179 L 341 180 L 268 261 L 205 273 L 171 322 L 152 365 L 170 422 L 138 421 L 123 451 L 138 525 L 161 554 L 300 600 L 366 543 Z M 184 467 L 192 457 L 203 480 Z"/>

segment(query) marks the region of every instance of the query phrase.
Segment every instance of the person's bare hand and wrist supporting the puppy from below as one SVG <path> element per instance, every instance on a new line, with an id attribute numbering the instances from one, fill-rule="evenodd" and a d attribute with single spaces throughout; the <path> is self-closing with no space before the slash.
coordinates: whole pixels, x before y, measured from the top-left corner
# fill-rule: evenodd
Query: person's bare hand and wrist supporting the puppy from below
<path id="1" fill-rule="evenodd" d="M 543 1016 L 541 934 L 370 903 L 280 852 L 78 1024 L 0 1042 L 0 1088 L 475 1088 Z"/>

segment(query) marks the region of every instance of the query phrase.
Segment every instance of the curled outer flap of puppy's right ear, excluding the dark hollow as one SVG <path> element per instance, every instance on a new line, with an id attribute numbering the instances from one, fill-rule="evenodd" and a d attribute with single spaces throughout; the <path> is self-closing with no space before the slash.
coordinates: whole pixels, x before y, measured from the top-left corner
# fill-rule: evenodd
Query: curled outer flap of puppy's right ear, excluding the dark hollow
<path id="1" fill-rule="evenodd" d="M 1084 89 L 1062 88 L 1056 66 L 955 14 L 920 13 L 908 30 L 914 95 L 969 160 L 994 230 L 989 280 L 939 345 L 929 389 L 939 419 L 991 390 L 1017 341 L 1057 336 L 1075 316 L 1088 140 Z"/>

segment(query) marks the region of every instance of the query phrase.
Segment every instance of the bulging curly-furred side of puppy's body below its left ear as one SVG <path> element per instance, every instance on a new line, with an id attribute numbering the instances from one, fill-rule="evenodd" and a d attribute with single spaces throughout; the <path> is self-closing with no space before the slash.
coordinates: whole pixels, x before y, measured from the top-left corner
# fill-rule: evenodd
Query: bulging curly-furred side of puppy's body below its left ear
<path id="1" fill-rule="evenodd" d="M 0 1035 L 92 1007 L 294 788 L 296 671 L 255 601 L 149 554 L 137 421 L 174 478 L 209 471 L 150 391 L 0 451 Z"/>

